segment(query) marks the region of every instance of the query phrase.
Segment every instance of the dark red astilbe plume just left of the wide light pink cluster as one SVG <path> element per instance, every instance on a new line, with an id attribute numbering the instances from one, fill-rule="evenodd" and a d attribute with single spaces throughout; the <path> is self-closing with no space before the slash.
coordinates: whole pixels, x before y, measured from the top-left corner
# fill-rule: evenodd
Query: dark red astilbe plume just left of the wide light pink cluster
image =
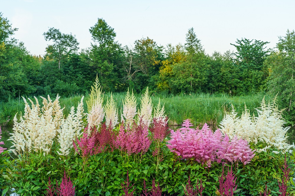
<path id="1" fill-rule="evenodd" d="M 150 128 L 150 132 L 153 134 L 153 139 L 155 141 L 163 141 L 170 132 L 168 129 L 168 117 L 165 119 L 161 117 L 158 119 L 153 118 L 153 124 Z"/>

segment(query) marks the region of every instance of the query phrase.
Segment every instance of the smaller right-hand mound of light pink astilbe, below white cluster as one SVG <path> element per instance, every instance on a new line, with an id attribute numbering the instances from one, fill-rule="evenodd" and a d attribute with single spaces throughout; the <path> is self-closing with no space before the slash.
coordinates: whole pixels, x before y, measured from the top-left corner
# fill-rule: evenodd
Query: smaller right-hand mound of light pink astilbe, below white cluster
<path id="1" fill-rule="evenodd" d="M 251 162 L 255 156 L 255 150 L 250 148 L 247 140 L 238 139 L 237 136 L 234 136 L 232 140 L 229 140 L 229 137 L 225 135 L 222 141 L 222 147 L 220 152 L 223 153 L 222 158 L 231 163 L 233 162 L 242 162 L 244 165 Z"/>

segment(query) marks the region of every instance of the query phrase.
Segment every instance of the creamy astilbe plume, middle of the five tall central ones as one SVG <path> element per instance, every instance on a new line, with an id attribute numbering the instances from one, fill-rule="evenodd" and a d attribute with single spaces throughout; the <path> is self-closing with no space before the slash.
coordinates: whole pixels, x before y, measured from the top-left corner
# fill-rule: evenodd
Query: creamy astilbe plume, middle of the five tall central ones
<path id="1" fill-rule="evenodd" d="M 121 120 L 126 125 L 131 124 L 133 122 L 135 115 L 137 114 L 136 112 L 137 103 L 136 103 L 136 98 L 133 94 L 133 89 L 132 89 L 132 94 L 130 95 L 129 88 L 128 88 L 125 99 L 122 101 L 123 101 L 123 114 L 121 112 Z"/>

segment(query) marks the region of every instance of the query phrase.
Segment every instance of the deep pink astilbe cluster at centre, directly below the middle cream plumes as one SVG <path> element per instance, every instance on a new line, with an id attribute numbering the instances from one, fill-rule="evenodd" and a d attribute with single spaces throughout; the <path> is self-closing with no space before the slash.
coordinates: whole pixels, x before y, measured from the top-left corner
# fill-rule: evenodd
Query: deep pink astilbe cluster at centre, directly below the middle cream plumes
<path id="1" fill-rule="evenodd" d="M 139 125 L 133 122 L 131 128 L 127 127 L 127 131 L 121 125 L 115 146 L 131 155 L 132 153 L 147 152 L 151 143 L 152 141 L 148 136 L 148 127 L 144 126 L 140 120 Z"/>

